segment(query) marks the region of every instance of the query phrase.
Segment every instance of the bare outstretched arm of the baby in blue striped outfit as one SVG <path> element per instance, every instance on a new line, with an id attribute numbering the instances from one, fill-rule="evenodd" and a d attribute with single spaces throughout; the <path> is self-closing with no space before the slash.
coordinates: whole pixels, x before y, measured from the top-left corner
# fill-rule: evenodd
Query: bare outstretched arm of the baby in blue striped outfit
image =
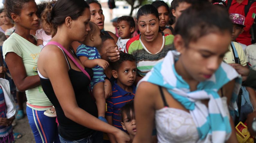
<path id="1" fill-rule="evenodd" d="M 107 62 L 106 60 L 102 60 L 102 59 L 89 60 L 88 57 L 86 57 L 86 56 L 79 56 L 79 60 L 86 68 L 93 68 L 93 67 L 99 65 L 100 67 L 102 67 L 105 70 L 109 66 L 109 62 Z"/>

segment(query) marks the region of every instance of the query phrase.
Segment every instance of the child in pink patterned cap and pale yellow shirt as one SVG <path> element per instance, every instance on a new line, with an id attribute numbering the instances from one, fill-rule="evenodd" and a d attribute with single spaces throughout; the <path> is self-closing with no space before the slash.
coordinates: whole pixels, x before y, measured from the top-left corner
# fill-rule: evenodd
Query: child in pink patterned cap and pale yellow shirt
<path id="1" fill-rule="evenodd" d="M 235 50 L 237 51 L 237 54 L 238 54 L 238 58 L 240 60 L 240 64 L 242 66 L 246 66 L 247 65 L 247 59 L 246 59 L 245 53 L 243 52 L 242 46 L 237 42 L 233 42 L 233 40 L 235 39 L 234 36 L 235 35 L 238 36 L 239 33 L 242 32 L 242 29 L 244 27 L 244 25 L 243 25 L 244 16 L 242 16 L 241 14 L 238 14 L 238 13 L 231 13 L 229 18 L 233 22 L 232 42 L 229 45 L 228 52 L 226 52 L 223 60 L 228 64 L 236 63 L 235 62 L 235 56 L 233 54 L 233 49 L 232 49 L 232 48 L 235 48 Z M 238 29 L 240 29 L 240 30 L 238 30 Z M 234 33 L 237 33 L 237 34 L 234 34 Z"/>

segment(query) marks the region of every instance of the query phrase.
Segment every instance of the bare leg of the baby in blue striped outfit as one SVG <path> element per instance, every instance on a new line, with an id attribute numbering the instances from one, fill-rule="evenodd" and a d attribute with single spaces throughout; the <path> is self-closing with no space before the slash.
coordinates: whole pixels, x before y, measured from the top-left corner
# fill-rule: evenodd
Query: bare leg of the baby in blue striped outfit
<path id="1" fill-rule="evenodd" d="M 105 117 L 106 112 L 106 99 L 104 94 L 104 82 L 100 82 L 94 85 L 92 89 L 94 98 L 96 99 L 96 105 L 98 108 L 98 116 Z"/>

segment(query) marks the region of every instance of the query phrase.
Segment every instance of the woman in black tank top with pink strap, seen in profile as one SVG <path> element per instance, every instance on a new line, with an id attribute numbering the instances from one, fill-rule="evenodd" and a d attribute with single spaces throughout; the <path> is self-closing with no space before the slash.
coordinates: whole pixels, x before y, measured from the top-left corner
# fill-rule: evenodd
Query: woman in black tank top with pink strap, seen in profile
<path id="1" fill-rule="evenodd" d="M 93 71 L 85 68 L 81 72 L 84 67 L 69 48 L 73 41 L 84 41 L 90 30 L 89 5 L 84 0 L 61 0 L 46 10 L 45 22 L 56 33 L 51 42 L 56 43 L 43 48 L 38 72 L 43 91 L 56 109 L 61 142 L 92 141 L 94 130 L 111 133 L 118 142 L 128 142 L 130 138 L 125 132 L 96 118 L 97 107 L 88 91 Z"/>

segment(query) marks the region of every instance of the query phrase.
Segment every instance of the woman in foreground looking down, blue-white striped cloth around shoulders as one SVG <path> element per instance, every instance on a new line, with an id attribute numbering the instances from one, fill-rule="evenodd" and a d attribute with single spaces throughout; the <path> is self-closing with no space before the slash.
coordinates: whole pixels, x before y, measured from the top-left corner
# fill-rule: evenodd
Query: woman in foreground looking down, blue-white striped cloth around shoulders
<path id="1" fill-rule="evenodd" d="M 235 111 L 241 79 L 222 62 L 231 28 L 221 7 L 201 3 L 183 12 L 175 27 L 176 51 L 138 83 L 134 143 L 151 142 L 154 121 L 159 143 L 237 142 L 227 105 Z"/>

